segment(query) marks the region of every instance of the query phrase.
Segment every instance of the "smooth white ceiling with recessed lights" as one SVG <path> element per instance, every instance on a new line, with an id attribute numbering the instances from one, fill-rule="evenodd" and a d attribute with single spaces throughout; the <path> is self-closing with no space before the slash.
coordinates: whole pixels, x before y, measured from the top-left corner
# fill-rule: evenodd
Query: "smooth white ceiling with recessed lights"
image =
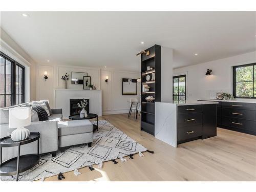
<path id="1" fill-rule="evenodd" d="M 1 12 L 1 27 L 39 64 L 139 71 L 154 44 L 174 49 L 174 68 L 256 50 L 256 12 L 22 13 Z"/>

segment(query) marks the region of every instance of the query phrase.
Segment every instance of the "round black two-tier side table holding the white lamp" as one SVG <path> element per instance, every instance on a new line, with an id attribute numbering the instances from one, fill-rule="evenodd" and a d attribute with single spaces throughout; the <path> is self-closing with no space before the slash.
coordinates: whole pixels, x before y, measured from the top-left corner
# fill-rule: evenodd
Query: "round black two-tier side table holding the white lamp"
<path id="1" fill-rule="evenodd" d="M 11 136 L 4 137 L 0 140 L 0 176 L 11 176 L 16 174 L 16 181 L 18 181 L 18 174 L 25 172 L 35 166 L 39 162 L 39 138 L 40 133 L 31 132 L 27 139 L 21 141 L 13 141 Z M 32 143 L 37 140 L 37 154 L 27 154 L 20 156 L 20 145 Z M 9 159 L 2 163 L 2 148 L 3 147 L 18 147 L 17 157 Z"/>

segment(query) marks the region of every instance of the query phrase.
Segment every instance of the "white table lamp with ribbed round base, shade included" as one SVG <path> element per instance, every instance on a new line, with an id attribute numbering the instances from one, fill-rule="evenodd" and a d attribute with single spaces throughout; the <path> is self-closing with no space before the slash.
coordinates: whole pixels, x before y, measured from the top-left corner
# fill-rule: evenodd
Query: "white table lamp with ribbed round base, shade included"
<path id="1" fill-rule="evenodd" d="M 9 109 L 9 128 L 16 128 L 11 133 L 13 141 L 20 141 L 29 137 L 29 130 L 24 126 L 31 124 L 31 109 L 25 108 L 10 108 Z"/>

